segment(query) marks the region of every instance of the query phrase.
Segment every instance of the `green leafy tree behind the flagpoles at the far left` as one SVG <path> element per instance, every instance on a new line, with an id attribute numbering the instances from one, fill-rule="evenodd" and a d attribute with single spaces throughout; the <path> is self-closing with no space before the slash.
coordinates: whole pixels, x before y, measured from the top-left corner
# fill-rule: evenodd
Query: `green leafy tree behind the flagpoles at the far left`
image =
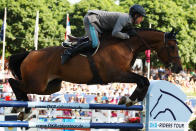
<path id="1" fill-rule="evenodd" d="M 60 45 L 65 33 L 65 28 L 60 23 L 69 6 L 66 0 L 9 0 L 0 3 L 1 18 L 4 8 L 7 7 L 6 51 L 12 54 L 34 49 L 37 11 L 39 11 L 38 48 Z"/>

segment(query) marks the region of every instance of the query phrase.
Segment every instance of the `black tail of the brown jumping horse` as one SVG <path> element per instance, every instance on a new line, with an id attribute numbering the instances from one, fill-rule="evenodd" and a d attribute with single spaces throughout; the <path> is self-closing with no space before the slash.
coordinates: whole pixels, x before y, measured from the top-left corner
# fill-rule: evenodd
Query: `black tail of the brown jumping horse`
<path id="1" fill-rule="evenodd" d="M 18 80 L 22 80 L 20 65 L 22 61 L 25 59 L 25 57 L 28 56 L 28 54 L 29 52 L 14 54 L 14 55 L 11 55 L 9 58 L 8 68 L 11 71 L 14 78 Z"/>

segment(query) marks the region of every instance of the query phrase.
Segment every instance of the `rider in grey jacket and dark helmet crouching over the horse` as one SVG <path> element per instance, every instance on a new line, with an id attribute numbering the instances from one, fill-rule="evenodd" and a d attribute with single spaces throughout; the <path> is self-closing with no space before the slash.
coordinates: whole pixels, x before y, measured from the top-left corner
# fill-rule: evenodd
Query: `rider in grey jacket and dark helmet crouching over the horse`
<path id="1" fill-rule="evenodd" d="M 129 9 L 129 14 L 119 12 L 107 12 L 101 10 L 89 10 L 84 16 L 84 26 L 89 41 L 69 47 L 64 51 L 61 58 L 61 64 L 66 63 L 72 56 L 80 51 L 85 51 L 90 47 L 97 48 L 100 44 L 99 33 L 112 31 L 112 36 L 120 39 L 129 39 L 127 33 L 122 33 L 125 26 L 140 24 L 146 17 L 144 8 L 138 4 Z"/>

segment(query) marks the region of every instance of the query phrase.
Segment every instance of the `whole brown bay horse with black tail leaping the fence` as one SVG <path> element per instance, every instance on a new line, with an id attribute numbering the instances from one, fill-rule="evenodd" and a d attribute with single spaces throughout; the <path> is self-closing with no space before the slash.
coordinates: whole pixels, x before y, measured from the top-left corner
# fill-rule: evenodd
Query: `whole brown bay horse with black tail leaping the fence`
<path id="1" fill-rule="evenodd" d="M 130 101 L 142 101 L 149 81 L 130 70 L 139 52 L 151 49 L 172 72 L 182 70 L 176 33 L 154 29 L 136 29 L 137 35 L 122 40 L 103 35 L 99 50 L 93 56 L 74 56 L 61 65 L 62 46 L 48 47 L 37 51 L 14 54 L 9 59 L 9 69 L 15 79 L 9 83 L 16 99 L 28 101 L 27 94 L 50 95 L 58 92 L 61 82 L 78 84 L 136 83 Z M 129 31 L 127 32 L 129 33 Z M 130 104 L 132 105 L 132 104 Z M 26 108 L 25 112 L 30 109 Z"/>

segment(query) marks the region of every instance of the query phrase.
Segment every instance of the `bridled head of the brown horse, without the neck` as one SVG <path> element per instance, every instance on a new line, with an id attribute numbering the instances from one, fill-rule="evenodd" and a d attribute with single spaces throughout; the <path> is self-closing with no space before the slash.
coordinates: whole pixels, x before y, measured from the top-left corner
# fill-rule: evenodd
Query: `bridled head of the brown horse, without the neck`
<path id="1" fill-rule="evenodd" d="M 157 55 L 167 68 L 172 72 L 179 73 L 182 70 L 180 56 L 178 54 L 178 42 L 174 29 L 164 34 L 164 41 L 158 45 Z"/>

